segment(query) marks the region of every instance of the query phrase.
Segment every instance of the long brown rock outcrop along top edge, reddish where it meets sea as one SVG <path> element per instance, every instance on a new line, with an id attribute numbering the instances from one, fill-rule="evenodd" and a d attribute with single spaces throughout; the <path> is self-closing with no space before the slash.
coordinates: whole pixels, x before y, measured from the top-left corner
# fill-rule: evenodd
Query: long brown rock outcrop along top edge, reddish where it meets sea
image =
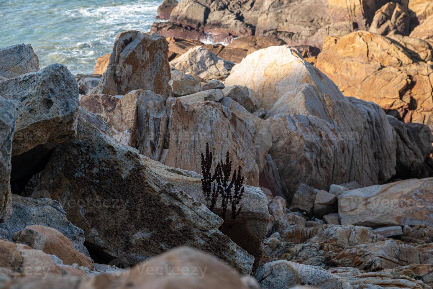
<path id="1" fill-rule="evenodd" d="M 371 0 L 183 0 L 172 10 L 170 22 L 154 23 L 152 31 L 202 41 L 210 37 L 213 42 L 277 36 L 289 45 L 321 47 L 327 35 L 366 29 L 379 7 Z"/>

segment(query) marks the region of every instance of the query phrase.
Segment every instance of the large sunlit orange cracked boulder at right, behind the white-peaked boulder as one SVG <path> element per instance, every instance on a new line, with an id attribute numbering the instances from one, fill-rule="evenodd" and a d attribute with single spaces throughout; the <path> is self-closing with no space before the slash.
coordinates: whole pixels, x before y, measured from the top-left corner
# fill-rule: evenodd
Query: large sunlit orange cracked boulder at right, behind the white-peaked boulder
<path id="1" fill-rule="evenodd" d="M 409 40 L 396 43 L 365 31 L 327 39 L 316 67 L 344 95 L 373 101 L 404 122 L 432 127 L 433 67 L 417 54 L 417 44 L 404 42 Z"/>

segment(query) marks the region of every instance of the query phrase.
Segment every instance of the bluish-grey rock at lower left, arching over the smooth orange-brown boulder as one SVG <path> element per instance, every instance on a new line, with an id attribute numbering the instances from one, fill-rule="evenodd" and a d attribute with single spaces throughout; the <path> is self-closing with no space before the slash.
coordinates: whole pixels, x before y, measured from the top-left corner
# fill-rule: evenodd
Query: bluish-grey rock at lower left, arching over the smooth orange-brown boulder
<path id="1" fill-rule="evenodd" d="M 12 241 L 15 232 L 22 231 L 27 226 L 40 225 L 61 232 L 72 241 L 78 252 L 89 257 L 89 252 L 84 247 L 83 230 L 68 221 L 59 202 L 51 199 L 32 199 L 12 195 L 12 206 L 11 217 L 7 222 L 0 224 L 0 229 L 8 232 L 9 241 Z"/>

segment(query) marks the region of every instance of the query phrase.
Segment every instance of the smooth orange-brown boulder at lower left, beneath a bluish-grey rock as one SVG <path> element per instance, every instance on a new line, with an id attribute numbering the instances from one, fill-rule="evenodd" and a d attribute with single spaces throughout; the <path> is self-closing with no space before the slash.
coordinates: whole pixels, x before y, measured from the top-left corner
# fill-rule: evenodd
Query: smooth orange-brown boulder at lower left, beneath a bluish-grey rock
<path id="1" fill-rule="evenodd" d="M 93 270 L 92 260 L 75 250 L 72 241 L 53 228 L 39 225 L 27 226 L 13 236 L 14 241 L 29 245 L 45 254 L 59 257 L 64 264 L 85 266 Z"/>

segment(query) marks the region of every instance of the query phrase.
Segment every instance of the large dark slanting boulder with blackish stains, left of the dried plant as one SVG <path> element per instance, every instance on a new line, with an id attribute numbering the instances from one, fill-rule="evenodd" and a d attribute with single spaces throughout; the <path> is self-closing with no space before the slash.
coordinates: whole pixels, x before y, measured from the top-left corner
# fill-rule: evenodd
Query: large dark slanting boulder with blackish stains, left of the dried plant
<path id="1" fill-rule="evenodd" d="M 77 138 L 52 154 L 37 189 L 66 202 L 87 242 L 130 264 L 188 244 L 244 275 L 252 268 L 254 258 L 218 231 L 219 217 L 83 119 Z"/>

